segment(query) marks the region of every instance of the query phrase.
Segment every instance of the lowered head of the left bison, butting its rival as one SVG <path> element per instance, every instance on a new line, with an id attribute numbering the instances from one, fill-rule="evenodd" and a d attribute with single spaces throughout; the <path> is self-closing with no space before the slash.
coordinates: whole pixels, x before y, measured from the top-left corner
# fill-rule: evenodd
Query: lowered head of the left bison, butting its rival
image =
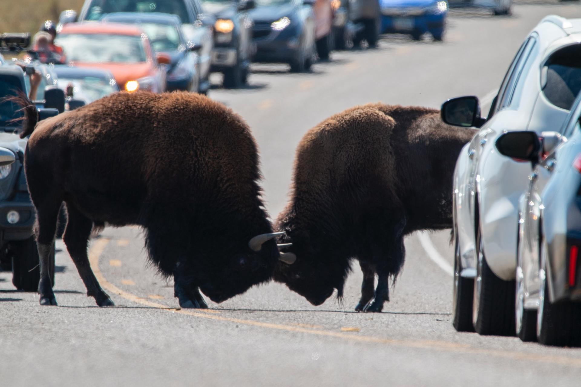
<path id="1" fill-rule="evenodd" d="M 225 264 L 206 267 L 200 290 L 219 303 L 242 294 L 253 285 L 270 280 L 279 258 L 274 240 L 278 235 L 268 233 L 253 237 L 238 252 L 226 253 L 229 258 Z"/>

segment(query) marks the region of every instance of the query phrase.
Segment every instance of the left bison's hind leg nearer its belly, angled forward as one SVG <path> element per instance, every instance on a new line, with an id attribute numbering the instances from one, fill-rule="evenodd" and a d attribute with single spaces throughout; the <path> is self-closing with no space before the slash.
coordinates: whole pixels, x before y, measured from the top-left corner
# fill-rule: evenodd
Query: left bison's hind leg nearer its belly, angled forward
<path id="1" fill-rule="evenodd" d="M 69 220 L 64 230 L 63 241 L 87 288 L 87 296 L 93 296 L 99 306 L 114 306 L 109 295 L 101 289 L 91 265 L 89 265 L 87 244 L 93 229 L 93 222 L 70 204 L 67 204 L 67 212 Z"/>

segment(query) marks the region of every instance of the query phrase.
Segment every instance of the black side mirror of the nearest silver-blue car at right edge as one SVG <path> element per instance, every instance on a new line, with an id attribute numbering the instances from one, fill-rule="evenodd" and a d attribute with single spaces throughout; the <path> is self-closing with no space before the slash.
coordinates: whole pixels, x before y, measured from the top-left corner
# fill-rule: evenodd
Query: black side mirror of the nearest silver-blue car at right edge
<path id="1" fill-rule="evenodd" d="M 539 152 L 542 144 L 535 132 L 517 131 L 501 135 L 496 140 L 496 149 L 500 154 L 508 156 L 515 161 L 539 160 Z"/>

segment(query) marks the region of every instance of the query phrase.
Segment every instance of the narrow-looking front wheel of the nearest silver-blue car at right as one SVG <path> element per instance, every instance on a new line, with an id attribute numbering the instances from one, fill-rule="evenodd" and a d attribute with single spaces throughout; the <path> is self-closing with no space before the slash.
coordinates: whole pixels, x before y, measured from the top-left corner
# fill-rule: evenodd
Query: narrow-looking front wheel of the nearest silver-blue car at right
<path id="1" fill-rule="evenodd" d="M 517 273 L 515 295 L 515 327 L 517 336 L 522 341 L 537 339 L 537 311 L 525 309 L 525 273 L 522 270 L 521 223 L 517 238 Z"/>

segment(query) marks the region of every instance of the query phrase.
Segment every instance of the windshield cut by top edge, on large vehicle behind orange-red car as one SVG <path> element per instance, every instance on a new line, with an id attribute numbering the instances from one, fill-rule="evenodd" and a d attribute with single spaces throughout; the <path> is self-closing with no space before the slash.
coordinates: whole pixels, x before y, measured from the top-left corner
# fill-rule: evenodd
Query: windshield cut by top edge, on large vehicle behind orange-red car
<path id="1" fill-rule="evenodd" d="M 99 20 L 103 15 L 114 12 L 162 12 L 180 17 L 182 23 L 189 20 L 184 0 L 91 0 L 87 20 Z"/>

